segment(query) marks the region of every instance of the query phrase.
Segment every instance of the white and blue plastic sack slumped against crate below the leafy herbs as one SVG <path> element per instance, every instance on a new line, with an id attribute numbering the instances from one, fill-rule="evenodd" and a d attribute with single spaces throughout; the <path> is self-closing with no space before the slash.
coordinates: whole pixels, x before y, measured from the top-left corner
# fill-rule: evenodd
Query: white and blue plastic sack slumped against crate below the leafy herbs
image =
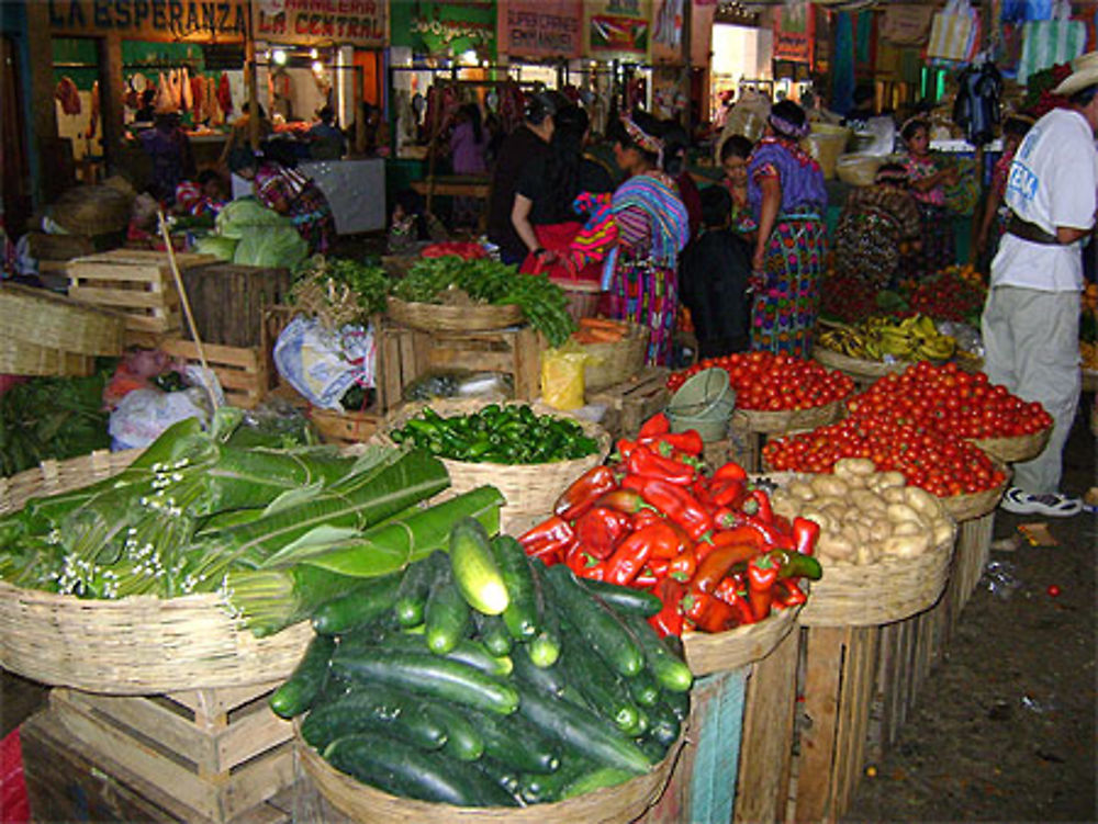
<path id="1" fill-rule="evenodd" d="M 373 327 L 348 325 L 338 332 L 316 318 L 298 316 L 278 336 L 274 366 L 287 383 L 321 409 L 345 411 L 339 399 L 351 386 L 373 386 Z"/>

